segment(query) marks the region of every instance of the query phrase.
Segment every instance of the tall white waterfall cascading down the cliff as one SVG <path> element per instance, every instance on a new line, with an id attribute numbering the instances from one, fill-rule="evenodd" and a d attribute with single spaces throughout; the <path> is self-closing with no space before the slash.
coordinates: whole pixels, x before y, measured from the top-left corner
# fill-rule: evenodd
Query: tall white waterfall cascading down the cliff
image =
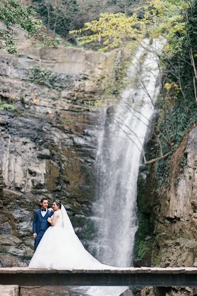
<path id="1" fill-rule="evenodd" d="M 161 40 L 144 40 L 128 70 L 128 88 L 115 111 L 103 111 L 96 160 L 94 217 L 97 238 L 89 246 L 99 261 L 131 266 L 138 227 L 136 191 L 139 166 L 158 95 Z M 146 48 L 149 48 L 148 50 Z"/>

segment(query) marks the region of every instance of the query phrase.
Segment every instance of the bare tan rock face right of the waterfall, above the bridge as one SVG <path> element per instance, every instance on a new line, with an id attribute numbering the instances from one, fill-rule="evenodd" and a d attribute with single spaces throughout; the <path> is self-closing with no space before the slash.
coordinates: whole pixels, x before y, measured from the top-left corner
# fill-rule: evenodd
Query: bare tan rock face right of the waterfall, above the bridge
<path id="1" fill-rule="evenodd" d="M 186 165 L 180 173 L 179 168 L 184 157 Z M 155 225 L 153 262 L 155 260 L 156 264 L 159 263 L 164 267 L 195 264 L 197 257 L 196 203 L 197 127 L 194 127 L 171 157 L 170 187 L 161 192 L 160 209 Z"/>

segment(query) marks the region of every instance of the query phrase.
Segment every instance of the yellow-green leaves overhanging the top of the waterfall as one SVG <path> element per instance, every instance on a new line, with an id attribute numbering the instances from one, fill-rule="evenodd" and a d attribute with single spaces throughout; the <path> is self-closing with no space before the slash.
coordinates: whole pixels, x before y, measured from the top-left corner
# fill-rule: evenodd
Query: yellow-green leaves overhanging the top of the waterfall
<path id="1" fill-rule="evenodd" d="M 81 44 L 98 42 L 101 51 L 121 47 L 128 40 L 140 40 L 147 33 L 152 38 L 164 35 L 170 41 L 185 34 L 183 12 L 188 6 L 185 1 L 147 0 L 146 3 L 140 7 L 142 18 L 137 15 L 139 8 L 129 17 L 121 12 L 105 12 L 100 14 L 99 20 L 85 23 L 83 29 L 70 34 L 77 34 Z M 169 48 L 167 50 L 170 52 Z"/>

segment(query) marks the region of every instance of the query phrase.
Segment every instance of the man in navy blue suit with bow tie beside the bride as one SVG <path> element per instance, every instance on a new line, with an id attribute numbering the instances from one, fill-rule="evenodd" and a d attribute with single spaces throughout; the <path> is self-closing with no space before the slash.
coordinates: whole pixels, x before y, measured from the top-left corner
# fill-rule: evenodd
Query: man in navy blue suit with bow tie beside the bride
<path id="1" fill-rule="evenodd" d="M 48 209 L 48 200 L 43 197 L 40 200 L 41 209 L 35 210 L 33 217 L 33 238 L 34 241 L 34 251 L 36 250 L 39 242 L 41 241 L 44 232 L 47 230 L 51 224 L 47 221 L 53 215 L 53 209 Z"/>

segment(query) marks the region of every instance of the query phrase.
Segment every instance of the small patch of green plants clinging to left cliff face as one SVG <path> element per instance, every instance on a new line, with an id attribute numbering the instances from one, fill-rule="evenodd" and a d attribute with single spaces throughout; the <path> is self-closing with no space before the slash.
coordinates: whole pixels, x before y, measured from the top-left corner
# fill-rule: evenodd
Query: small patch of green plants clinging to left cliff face
<path id="1" fill-rule="evenodd" d="M 29 69 L 28 79 L 35 84 L 42 84 L 48 88 L 62 90 L 66 85 L 71 86 L 73 81 L 69 75 L 52 72 L 46 67 L 35 66 Z"/>

